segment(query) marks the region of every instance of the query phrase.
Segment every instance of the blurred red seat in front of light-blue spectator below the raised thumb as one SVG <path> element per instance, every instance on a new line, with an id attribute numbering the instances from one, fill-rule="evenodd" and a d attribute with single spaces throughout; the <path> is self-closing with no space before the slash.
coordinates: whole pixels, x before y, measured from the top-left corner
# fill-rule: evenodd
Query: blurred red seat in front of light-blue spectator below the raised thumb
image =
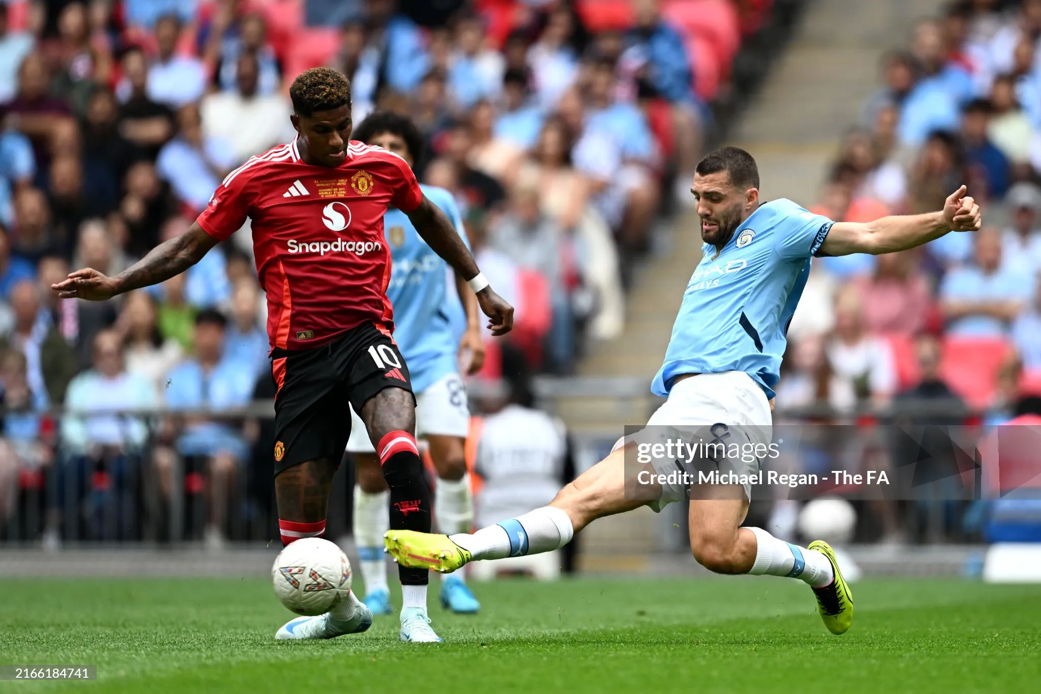
<path id="1" fill-rule="evenodd" d="M 988 407 L 994 399 L 997 372 L 1012 354 L 999 338 L 947 337 L 940 356 L 940 376 L 970 407 Z"/>

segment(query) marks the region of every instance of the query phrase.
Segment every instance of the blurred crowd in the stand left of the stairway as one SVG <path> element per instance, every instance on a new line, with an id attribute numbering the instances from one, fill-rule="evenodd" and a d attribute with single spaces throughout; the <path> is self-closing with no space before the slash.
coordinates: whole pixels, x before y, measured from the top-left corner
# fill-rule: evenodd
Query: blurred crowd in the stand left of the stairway
<path id="1" fill-rule="evenodd" d="M 568 374 L 620 332 L 633 263 L 689 200 L 707 104 L 772 3 L 0 0 L 0 526 L 54 460 L 59 496 L 141 469 L 164 496 L 205 479 L 213 537 L 236 470 L 270 477 L 263 422 L 207 416 L 274 395 L 248 224 L 160 286 L 92 303 L 50 285 L 183 233 L 229 171 L 295 136 L 302 70 L 347 74 L 356 123 L 421 127 L 421 181 L 455 195 L 516 307 L 485 376 L 504 350 Z M 155 406 L 185 414 L 105 413 Z"/>

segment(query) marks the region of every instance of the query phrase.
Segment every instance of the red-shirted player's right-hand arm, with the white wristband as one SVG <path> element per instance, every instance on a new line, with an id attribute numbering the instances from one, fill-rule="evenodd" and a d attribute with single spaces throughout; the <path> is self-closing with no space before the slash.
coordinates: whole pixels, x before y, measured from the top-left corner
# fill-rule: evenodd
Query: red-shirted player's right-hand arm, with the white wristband
<path id="1" fill-rule="evenodd" d="M 474 256 L 466 250 L 466 245 L 462 242 L 462 237 L 456 232 L 448 215 L 437 205 L 424 196 L 420 206 L 408 213 L 408 219 L 423 240 L 427 241 L 427 246 L 445 258 L 456 275 L 467 282 L 478 276 L 480 271 Z M 481 310 L 488 316 L 491 334 L 508 333 L 513 328 L 513 307 L 489 286 L 476 293 Z"/>

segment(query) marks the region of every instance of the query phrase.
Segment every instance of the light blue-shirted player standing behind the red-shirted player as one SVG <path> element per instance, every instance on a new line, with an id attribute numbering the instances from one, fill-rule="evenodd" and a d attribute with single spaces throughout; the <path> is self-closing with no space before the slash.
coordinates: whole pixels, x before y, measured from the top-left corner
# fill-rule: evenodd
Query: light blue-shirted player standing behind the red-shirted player
<path id="1" fill-rule="evenodd" d="M 377 111 L 362 122 L 354 136 L 398 154 L 409 165 L 423 147 L 423 137 L 405 115 Z M 421 186 L 424 195 L 448 215 L 463 236 L 462 221 L 452 194 L 443 188 Z M 477 298 L 462 280 L 448 286 L 448 265 L 416 233 L 408 216 L 397 209 L 383 217 L 383 233 L 390 249 L 391 272 L 387 299 L 393 307 L 393 338 L 401 350 L 415 391 L 416 437 L 426 439 L 437 470 L 434 514 L 442 533 L 466 533 L 474 520 L 474 502 L 463 453 L 469 429 L 466 391 L 460 368 L 474 372 L 484 359 L 484 344 Z M 467 329 L 458 338 L 452 322 L 452 297 L 458 293 L 466 313 Z M 454 307 L 456 310 L 457 307 Z M 353 414 L 353 413 L 352 413 Z M 365 581 L 364 602 L 374 614 L 390 614 L 383 533 L 390 526 L 389 491 L 380 470 L 379 458 L 365 427 L 353 414 L 347 449 L 357 462 L 354 489 L 354 534 Z M 426 615 L 426 586 L 402 586 L 402 624 L 422 607 Z M 446 576 L 441 603 L 454 612 L 473 613 L 480 608 L 461 576 Z"/>

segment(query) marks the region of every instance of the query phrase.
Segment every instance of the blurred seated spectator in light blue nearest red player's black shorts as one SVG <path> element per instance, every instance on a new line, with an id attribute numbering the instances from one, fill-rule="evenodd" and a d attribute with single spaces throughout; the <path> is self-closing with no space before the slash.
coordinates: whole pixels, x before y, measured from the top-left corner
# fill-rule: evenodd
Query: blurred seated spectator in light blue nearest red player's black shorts
<path id="1" fill-rule="evenodd" d="M 244 407 L 253 396 L 253 371 L 248 365 L 225 359 L 227 320 L 219 311 L 200 311 L 195 325 L 195 357 L 167 376 L 167 405 L 183 410 L 183 428 L 176 436 L 176 452 L 206 461 L 209 477 L 209 523 L 206 541 L 223 543 L 231 481 L 249 447 L 239 431 L 226 419 L 199 414 L 202 409 Z M 173 458 L 163 452 L 155 458 L 160 480 L 170 479 Z"/>

